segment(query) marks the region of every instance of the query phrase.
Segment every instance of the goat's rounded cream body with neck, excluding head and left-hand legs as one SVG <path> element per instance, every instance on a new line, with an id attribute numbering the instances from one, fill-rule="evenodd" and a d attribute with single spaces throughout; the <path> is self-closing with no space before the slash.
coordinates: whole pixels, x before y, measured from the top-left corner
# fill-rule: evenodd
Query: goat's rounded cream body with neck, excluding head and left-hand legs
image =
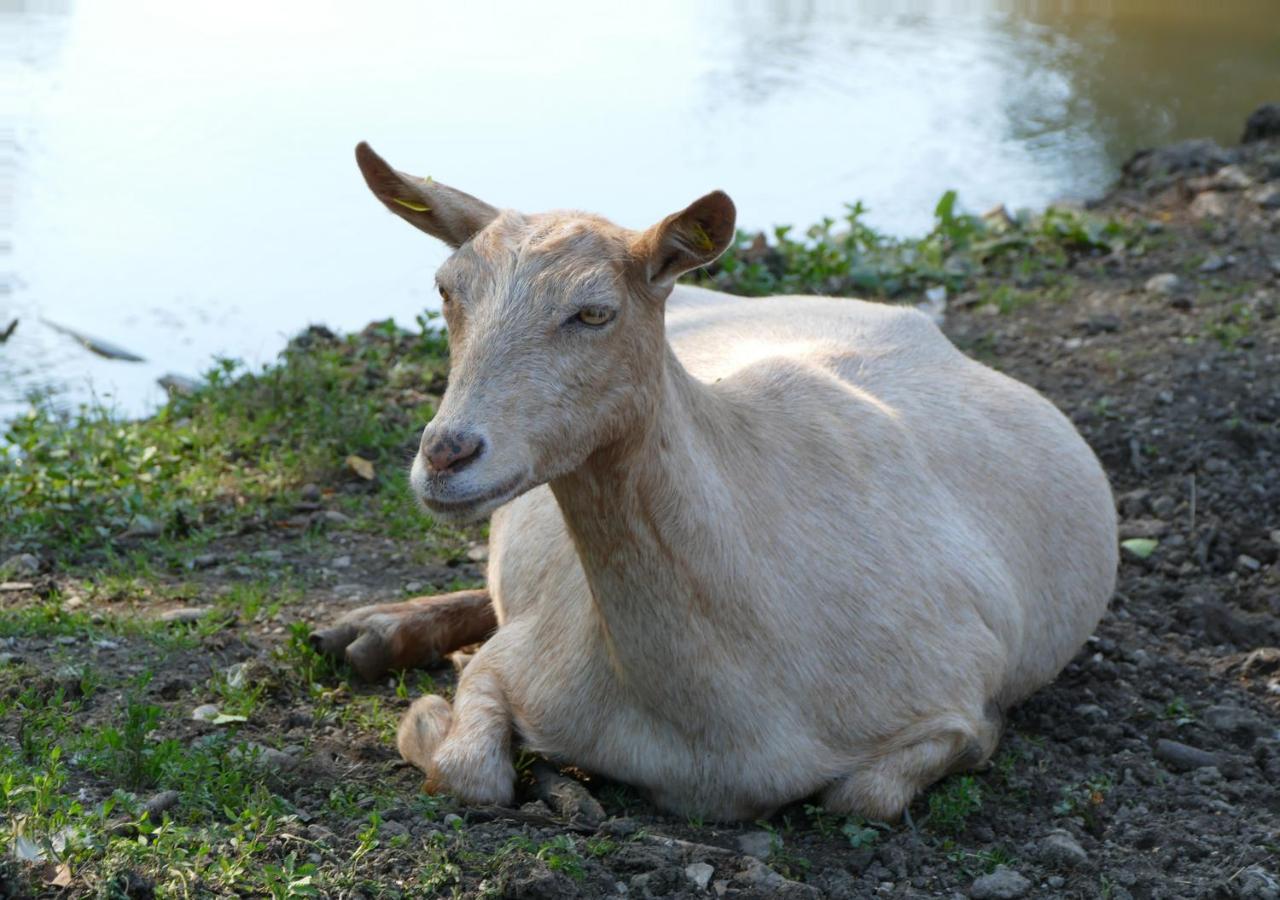
<path id="1" fill-rule="evenodd" d="M 499 629 L 461 690 L 483 657 L 526 744 L 669 809 L 896 814 L 1102 616 L 1106 478 L 910 310 L 681 287 L 667 337 L 700 384 L 649 452 L 494 516 Z"/>

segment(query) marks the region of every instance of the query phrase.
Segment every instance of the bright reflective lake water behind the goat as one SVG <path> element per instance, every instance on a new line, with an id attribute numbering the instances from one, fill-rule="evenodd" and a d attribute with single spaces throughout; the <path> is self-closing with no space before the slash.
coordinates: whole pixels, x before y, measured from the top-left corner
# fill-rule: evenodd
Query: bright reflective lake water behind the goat
<path id="1" fill-rule="evenodd" d="M 713 187 L 744 227 L 861 198 L 1042 206 L 1280 100 L 1276 0 L 0 0 L 0 419 L 124 414 L 312 321 L 410 323 L 443 251 L 352 147 L 495 205 L 644 227 Z M 4 250 L 0 250 L 4 252 Z M 146 357 L 101 360 L 40 319 Z"/>

